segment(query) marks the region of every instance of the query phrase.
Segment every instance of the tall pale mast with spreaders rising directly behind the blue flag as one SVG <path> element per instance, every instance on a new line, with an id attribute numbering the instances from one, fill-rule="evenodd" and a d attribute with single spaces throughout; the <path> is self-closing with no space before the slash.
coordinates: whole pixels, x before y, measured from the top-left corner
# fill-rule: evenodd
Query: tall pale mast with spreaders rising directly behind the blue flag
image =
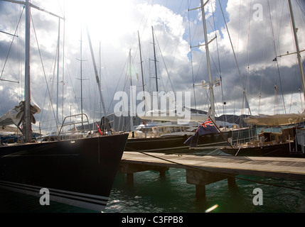
<path id="1" fill-rule="evenodd" d="M 201 13 L 203 16 L 203 31 L 204 31 L 204 38 L 205 38 L 205 53 L 206 53 L 206 61 L 208 65 L 208 79 L 209 79 L 209 90 L 210 90 L 210 108 L 212 111 L 212 120 L 215 122 L 215 104 L 214 104 L 214 92 L 213 92 L 213 82 L 212 82 L 212 75 L 210 72 L 210 50 L 208 48 L 208 34 L 207 34 L 207 28 L 206 28 L 206 21 L 205 21 L 205 11 L 204 11 L 204 4 L 203 0 L 200 0 L 201 3 Z M 205 3 L 207 4 L 208 1 Z"/>

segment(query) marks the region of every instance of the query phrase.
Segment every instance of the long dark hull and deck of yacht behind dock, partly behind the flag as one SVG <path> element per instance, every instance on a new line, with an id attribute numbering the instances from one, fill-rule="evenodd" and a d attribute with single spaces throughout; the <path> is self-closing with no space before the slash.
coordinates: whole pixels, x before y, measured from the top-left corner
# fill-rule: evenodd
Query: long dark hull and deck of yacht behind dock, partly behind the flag
<path id="1" fill-rule="evenodd" d="M 206 116 L 202 116 L 201 119 L 205 118 Z M 158 120 L 142 123 L 134 131 L 129 132 L 125 150 L 151 153 L 189 153 L 191 150 L 220 148 L 227 145 L 228 140 L 230 143 L 237 143 L 237 140 L 240 139 L 249 140 L 254 130 L 253 128 L 251 131 L 249 128 L 237 128 L 235 125 L 232 128 L 222 127 L 220 131 L 201 135 L 196 146 L 193 147 L 190 143 L 185 142 L 196 133 L 197 122 L 199 121 L 190 122 L 187 125 Z M 216 123 L 219 122 L 216 121 Z"/>

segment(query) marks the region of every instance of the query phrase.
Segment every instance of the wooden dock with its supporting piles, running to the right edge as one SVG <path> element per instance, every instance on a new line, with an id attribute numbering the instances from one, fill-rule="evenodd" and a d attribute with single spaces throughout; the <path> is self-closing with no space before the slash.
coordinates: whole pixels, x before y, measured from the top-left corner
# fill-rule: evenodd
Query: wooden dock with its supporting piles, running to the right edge
<path id="1" fill-rule="evenodd" d="M 235 185 L 237 175 L 256 175 L 284 179 L 305 179 L 305 158 L 235 157 L 229 155 L 165 155 L 161 153 L 124 152 L 120 171 L 133 181 L 134 173 L 169 168 L 186 170 L 186 182 L 196 185 L 196 196 L 205 196 L 205 185 L 228 179 Z"/>

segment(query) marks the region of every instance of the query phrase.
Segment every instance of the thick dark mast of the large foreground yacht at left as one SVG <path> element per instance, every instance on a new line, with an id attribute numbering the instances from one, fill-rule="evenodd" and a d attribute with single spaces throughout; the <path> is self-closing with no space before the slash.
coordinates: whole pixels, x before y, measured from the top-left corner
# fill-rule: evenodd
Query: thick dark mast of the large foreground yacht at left
<path id="1" fill-rule="evenodd" d="M 26 0 L 26 65 L 25 65 L 25 125 L 23 135 L 26 143 L 31 141 L 31 79 L 30 79 L 30 29 L 31 29 L 31 6 L 30 1 Z"/>

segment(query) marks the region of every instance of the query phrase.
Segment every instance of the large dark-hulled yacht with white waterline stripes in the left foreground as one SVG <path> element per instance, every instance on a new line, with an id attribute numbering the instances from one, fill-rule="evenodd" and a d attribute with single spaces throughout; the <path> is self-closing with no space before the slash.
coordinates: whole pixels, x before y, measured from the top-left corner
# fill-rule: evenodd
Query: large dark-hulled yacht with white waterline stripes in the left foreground
<path id="1" fill-rule="evenodd" d="M 32 142 L 33 115 L 40 111 L 38 106 L 31 105 L 29 50 L 33 4 L 29 0 L 21 4 L 26 7 L 26 100 L 1 118 L 1 123 L 12 121 L 16 126 L 22 123 L 24 142 L 0 145 L 0 188 L 38 197 L 42 196 L 41 192 L 48 192 L 50 201 L 102 211 L 107 205 L 128 134 Z M 20 204 L 16 201 L 9 205 Z"/>

